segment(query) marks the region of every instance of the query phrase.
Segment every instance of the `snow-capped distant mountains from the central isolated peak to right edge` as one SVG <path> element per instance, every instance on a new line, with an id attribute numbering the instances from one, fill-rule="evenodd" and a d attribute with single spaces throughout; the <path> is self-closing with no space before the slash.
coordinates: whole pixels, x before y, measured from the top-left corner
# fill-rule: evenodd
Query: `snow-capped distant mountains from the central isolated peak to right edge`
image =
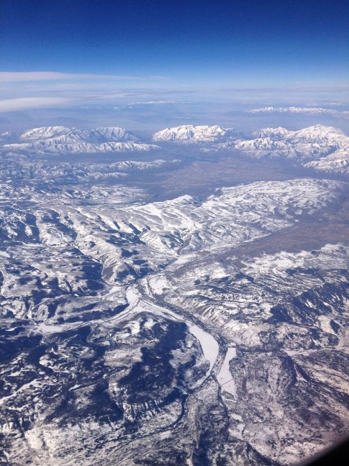
<path id="1" fill-rule="evenodd" d="M 343 174 L 349 172 L 349 137 L 341 129 L 324 125 L 314 125 L 297 131 L 267 127 L 258 129 L 249 137 L 235 129 L 223 129 L 217 125 L 183 125 L 156 132 L 152 139 L 162 142 L 201 143 L 202 150 L 206 153 L 212 150 L 238 150 L 248 157 L 290 159 L 318 171 Z"/>

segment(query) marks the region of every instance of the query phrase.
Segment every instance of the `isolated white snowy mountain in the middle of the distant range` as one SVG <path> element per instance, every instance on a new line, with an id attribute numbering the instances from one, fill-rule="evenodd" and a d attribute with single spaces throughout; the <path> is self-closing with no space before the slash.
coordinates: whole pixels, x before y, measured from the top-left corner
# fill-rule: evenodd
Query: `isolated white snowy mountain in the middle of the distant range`
<path id="1" fill-rule="evenodd" d="M 190 143 L 211 143 L 236 138 L 235 129 L 225 129 L 218 125 L 182 125 L 165 128 L 153 134 L 153 141 L 181 141 Z"/>

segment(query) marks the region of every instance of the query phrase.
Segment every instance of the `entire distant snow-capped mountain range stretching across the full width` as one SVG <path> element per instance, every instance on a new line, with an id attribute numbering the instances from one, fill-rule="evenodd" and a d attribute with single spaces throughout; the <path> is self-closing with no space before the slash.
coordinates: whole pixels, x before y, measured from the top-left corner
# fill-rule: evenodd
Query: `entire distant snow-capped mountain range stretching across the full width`
<path id="1" fill-rule="evenodd" d="M 205 153 L 238 151 L 248 157 L 291 160 L 318 171 L 349 173 L 349 137 L 341 129 L 324 125 L 297 131 L 266 127 L 251 136 L 218 125 L 181 125 L 154 133 L 151 143 L 141 141 L 120 127 L 76 129 L 53 126 L 30 129 L 20 136 L 4 132 L 0 141 L 3 154 L 18 153 L 25 157 L 158 150 L 159 146 L 154 142 L 161 143 L 163 150 L 166 143 L 178 143 L 183 148 L 195 144 Z"/>

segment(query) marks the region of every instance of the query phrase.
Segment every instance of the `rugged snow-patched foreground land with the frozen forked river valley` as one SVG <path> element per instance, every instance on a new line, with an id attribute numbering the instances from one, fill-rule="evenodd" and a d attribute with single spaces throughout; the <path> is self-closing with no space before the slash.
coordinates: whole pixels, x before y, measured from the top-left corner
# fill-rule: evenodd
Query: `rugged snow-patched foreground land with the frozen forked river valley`
<path id="1" fill-rule="evenodd" d="M 34 186 L 0 184 L 0 463 L 291 465 L 348 430 L 349 250 L 312 237 L 346 183 Z"/>

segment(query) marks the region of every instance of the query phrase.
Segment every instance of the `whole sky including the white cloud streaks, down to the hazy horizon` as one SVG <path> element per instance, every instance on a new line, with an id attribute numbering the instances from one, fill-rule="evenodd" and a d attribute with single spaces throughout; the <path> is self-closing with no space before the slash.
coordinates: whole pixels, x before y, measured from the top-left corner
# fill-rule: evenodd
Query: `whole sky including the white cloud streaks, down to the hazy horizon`
<path id="1" fill-rule="evenodd" d="M 338 0 L 1 0 L 0 100 L 348 100 L 348 24 Z"/>

